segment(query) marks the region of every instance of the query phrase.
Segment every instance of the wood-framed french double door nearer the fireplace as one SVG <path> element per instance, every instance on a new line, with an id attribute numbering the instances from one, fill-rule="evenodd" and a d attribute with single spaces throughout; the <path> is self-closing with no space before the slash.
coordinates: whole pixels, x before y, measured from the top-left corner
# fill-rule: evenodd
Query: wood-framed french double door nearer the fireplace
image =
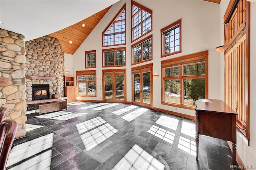
<path id="1" fill-rule="evenodd" d="M 126 69 L 103 70 L 103 101 L 126 102 Z"/>

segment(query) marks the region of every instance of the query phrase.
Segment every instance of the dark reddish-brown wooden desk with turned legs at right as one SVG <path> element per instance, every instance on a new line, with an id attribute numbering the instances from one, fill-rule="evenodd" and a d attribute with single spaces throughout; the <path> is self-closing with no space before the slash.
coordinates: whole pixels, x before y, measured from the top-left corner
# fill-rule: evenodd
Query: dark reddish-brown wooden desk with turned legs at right
<path id="1" fill-rule="evenodd" d="M 236 164 L 236 116 L 221 100 L 212 103 L 196 101 L 196 160 L 198 160 L 199 134 L 232 142 L 232 164 Z"/>

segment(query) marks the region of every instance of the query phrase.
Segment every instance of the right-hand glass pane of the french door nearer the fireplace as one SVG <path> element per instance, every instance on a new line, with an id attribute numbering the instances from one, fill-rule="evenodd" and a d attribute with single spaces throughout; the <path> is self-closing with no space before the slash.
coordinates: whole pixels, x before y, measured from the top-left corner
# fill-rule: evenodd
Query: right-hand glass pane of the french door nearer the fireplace
<path id="1" fill-rule="evenodd" d="M 124 75 L 116 75 L 116 100 L 124 100 Z"/>

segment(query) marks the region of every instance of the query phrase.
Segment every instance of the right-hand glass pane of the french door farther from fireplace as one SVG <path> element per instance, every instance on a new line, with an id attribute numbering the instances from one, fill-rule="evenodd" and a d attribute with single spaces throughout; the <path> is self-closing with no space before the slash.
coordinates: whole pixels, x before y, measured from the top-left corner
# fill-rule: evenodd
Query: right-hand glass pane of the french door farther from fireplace
<path id="1" fill-rule="evenodd" d="M 143 85 L 143 91 L 142 91 L 143 103 L 150 105 L 151 103 L 150 72 L 142 73 L 142 85 Z"/>

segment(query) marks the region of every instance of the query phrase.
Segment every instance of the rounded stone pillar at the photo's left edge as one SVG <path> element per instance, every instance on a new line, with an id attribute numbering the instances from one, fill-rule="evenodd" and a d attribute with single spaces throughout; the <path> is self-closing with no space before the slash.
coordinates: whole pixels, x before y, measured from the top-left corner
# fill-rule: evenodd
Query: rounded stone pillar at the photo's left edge
<path id="1" fill-rule="evenodd" d="M 15 138 L 26 134 L 25 55 L 24 36 L 0 29 L 0 107 L 8 109 L 4 120 L 18 123 Z"/>

